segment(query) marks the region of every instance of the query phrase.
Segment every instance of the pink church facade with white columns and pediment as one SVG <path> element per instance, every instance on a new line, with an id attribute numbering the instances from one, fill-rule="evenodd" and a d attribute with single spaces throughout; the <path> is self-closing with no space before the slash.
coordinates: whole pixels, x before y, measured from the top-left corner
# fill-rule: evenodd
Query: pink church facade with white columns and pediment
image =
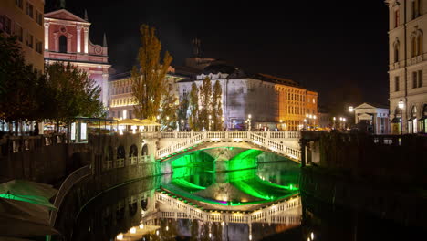
<path id="1" fill-rule="evenodd" d="M 102 46 L 89 39 L 90 23 L 66 9 L 45 15 L 45 60 L 71 63 L 86 71 L 101 88 L 100 99 L 108 106 L 109 56 L 106 37 Z"/>

